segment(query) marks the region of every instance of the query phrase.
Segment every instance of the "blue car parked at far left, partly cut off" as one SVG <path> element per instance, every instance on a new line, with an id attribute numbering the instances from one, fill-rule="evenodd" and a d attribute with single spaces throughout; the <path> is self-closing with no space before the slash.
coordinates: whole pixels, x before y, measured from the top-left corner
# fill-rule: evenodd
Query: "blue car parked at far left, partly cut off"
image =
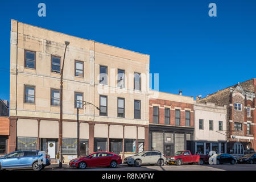
<path id="1" fill-rule="evenodd" d="M 15 151 L 0 157 L 0 170 L 13 168 L 32 168 L 40 171 L 51 164 L 51 159 L 44 151 Z"/>

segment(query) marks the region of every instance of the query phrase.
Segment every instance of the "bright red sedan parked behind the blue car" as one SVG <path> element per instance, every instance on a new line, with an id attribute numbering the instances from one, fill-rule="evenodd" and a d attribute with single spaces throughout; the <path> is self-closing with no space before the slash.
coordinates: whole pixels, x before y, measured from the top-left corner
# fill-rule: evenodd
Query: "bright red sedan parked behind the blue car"
<path id="1" fill-rule="evenodd" d="M 84 169 L 86 167 L 110 166 L 122 164 L 121 156 L 110 152 L 94 152 L 85 157 L 76 158 L 69 162 L 69 167 Z"/>

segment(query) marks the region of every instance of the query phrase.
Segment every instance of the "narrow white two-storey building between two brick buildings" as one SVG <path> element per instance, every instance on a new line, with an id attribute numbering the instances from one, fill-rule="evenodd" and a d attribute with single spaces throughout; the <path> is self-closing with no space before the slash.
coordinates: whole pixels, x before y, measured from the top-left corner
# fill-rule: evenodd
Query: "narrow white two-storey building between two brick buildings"
<path id="1" fill-rule="evenodd" d="M 226 153 L 226 105 L 194 101 L 194 113 L 196 154 Z"/>

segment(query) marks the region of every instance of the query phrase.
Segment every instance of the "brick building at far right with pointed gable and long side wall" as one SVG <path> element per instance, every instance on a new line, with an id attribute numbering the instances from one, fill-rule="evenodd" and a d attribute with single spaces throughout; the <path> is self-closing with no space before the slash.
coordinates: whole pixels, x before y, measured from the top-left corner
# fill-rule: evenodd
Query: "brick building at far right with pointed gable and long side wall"
<path id="1" fill-rule="evenodd" d="M 256 79 L 247 80 L 201 98 L 199 102 L 227 105 L 228 153 L 244 155 L 255 151 Z"/>

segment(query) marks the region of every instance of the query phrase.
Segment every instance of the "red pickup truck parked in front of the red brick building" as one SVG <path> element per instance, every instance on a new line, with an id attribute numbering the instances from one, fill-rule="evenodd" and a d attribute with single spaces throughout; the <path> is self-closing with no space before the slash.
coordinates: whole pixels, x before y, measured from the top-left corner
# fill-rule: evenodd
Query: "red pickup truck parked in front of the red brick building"
<path id="1" fill-rule="evenodd" d="M 204 165 L 209 160 L 209 155 L 191 155 L 189 150 L 177 151 L 174 156 L 167 156 L 167 164 L 176 164 L 180 166 L 182 164 L 197 163 Z"/>

